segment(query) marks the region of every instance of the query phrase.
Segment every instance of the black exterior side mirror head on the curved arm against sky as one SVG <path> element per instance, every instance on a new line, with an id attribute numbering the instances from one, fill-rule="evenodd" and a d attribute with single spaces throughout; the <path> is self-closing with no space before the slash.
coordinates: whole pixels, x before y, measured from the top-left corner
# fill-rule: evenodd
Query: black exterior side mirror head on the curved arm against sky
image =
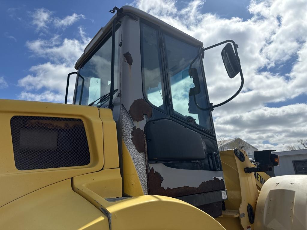
<path id="1" fill-rule="evenodd" d="M 234 78 L 240 72 L 240 63 L 230 43 L 227 43 L 222 50 L 222 59 L 230 78 Z"/>

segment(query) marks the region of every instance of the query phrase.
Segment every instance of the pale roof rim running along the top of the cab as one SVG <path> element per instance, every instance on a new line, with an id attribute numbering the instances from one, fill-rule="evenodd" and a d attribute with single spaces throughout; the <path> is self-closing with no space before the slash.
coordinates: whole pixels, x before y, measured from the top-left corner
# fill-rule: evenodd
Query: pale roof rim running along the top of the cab
<path id="1" fill-rule="evenodd" d="M 203 46 L 203 43 L 196 38 L 182 32 L 179 29 L 176 29 L 175 27 L 165 23 L 164 21 L 161 21 L 160 19 L 153 17 L 149 13 L 146 13 L 143 10 L 139 10 L 133 6 L 122 6 L 123 9 L 122 13 L 129 12 L 134 14 L 137 17 L 143 18 L 147 21 L 150 21 L 151 23 L 159 26 L 161 29 L 167 31 L 168 33 L 180 37 L 181 40 L 184 40 L 190 44 L 193 44 L 195 46 Z M 77 60 L 75 64 L 75 69 L 78 70 L 80 68 L 80 65 L 84 62 L 84 60 L 87 58 L 87 56 L 93 51 L 93 49 L 97 46 L 97 44 L 103 39 L 103 37 L 109 32 L 109 30 L 112 28 L 112 22 L 113 19 L 116 17 L 116 14 L 111 18 L 110 21 L 104 26 L 99 29 L 99 31 L 95 34 L 95 36 L 92 38 L 92 40 L 87 44 L 87 46 L 84 49 L 83 54 L 80 56 L 80 58 Z"/>

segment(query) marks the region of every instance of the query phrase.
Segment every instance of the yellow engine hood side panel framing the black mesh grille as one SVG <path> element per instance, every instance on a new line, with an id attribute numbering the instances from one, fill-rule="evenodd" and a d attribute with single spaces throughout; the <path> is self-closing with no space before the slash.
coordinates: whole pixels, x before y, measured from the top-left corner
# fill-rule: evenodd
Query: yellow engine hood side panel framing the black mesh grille
<path id="1" fill-rule="evenodd" d="M 19 171 L 15 167 L 10 119 L 13 116 L 43 116 L 77 118 L 84 122 L 91 155 L 90 164 Z M 103 113 L 102 120 L 112 119 Z M 103 129 L 95 107 L 48 102 L 0 100 L 0 207 L 30 192 L 77 175 L 103 168 Z M 107 131 L 107 130 L 106 130 Z M 113 164 L 114 165 L 114 164 Z M 5 188 L 5 189 L 4 189 Z"/>

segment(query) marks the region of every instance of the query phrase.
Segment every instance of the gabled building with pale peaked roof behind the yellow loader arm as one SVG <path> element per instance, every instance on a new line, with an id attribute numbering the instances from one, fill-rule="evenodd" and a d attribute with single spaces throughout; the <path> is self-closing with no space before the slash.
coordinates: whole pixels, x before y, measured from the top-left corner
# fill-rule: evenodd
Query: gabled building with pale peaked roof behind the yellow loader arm
<path id="1" fill-rule="evenodd" d="M 220 151 L 235 148 L 241 149 L 243 147 L 243 149 L 246 151 L 247 155 L 250 158 L 254 158 L 254 151 L 258 151 L 258 148 L 255 148 L 254 146 L 239 137 L 229 140 L 220 140 L 218 141 L 218 146 Z"/>

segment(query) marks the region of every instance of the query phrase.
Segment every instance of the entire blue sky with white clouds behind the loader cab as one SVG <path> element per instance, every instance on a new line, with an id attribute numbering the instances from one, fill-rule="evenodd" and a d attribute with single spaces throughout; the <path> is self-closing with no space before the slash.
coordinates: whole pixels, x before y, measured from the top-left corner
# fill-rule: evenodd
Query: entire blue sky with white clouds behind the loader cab
<path id="1" fill-rule="evenodd" d="M 306 138 L 306 0 L 2 1 L 0 98 L 63 102 L 67 73 L 110 20 L 109 10 L 126 4 L 204 46 L 227 39 L 239 44 L 245 85 L 238 97 L 213 112 L 218 134 L 277 150 Z M 240 85 L 239 78 L 225 77 L 221 64 L 220 50 L 205 54 L 214 104 Z"/>

